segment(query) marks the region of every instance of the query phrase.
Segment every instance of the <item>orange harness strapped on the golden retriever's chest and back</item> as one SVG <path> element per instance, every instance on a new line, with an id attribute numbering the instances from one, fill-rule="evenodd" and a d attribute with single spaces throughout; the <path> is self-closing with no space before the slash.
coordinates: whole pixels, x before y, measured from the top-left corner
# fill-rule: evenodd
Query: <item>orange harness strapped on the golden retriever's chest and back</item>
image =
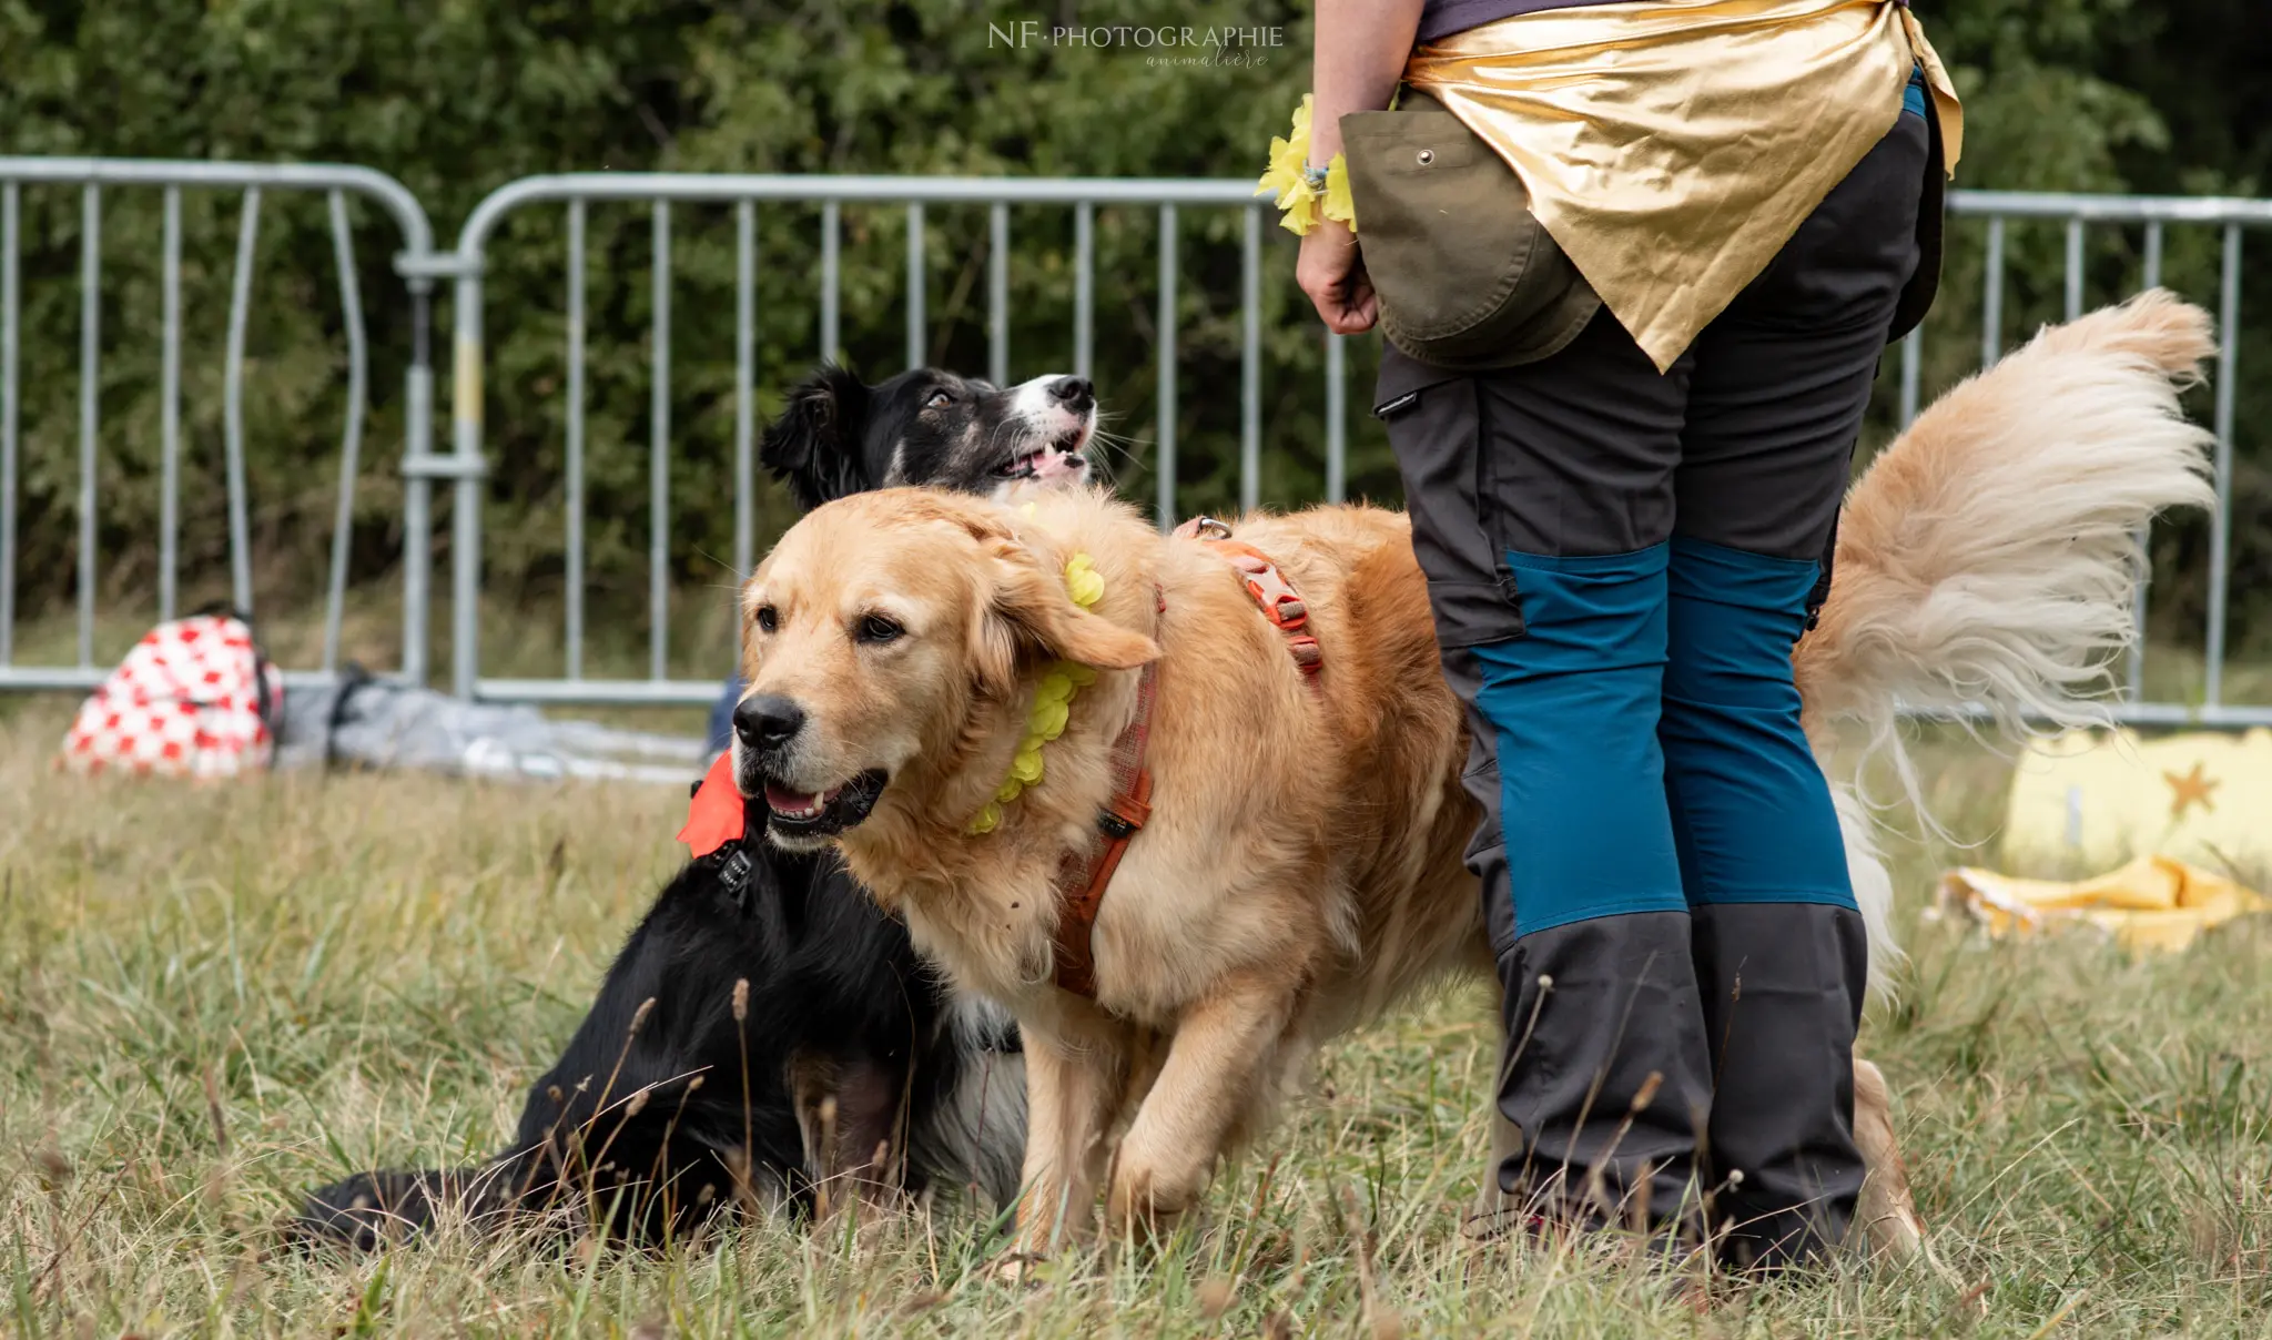
<path id="1" fill-rule="evenodd" d="M 1311 688 L 1318 688 L 1318 670 L 1325 668 L 1325 652 L 1318 647 L 1318 638 L 1304 631 L 1309 629 L 1309 606 L 1293 581 L 1286 579 L 1286 572 L 1279 570 L 1277 561 L 1254 545 L 1234 541 L 1231 527 L 1206 516 L 1195 516 L 1175 527 L 1175 538 L 1200 541 L 1231 566 L 1231 572 L 1238 575 L 1247 597 L 1263 611 L 1270 627 L 1286 634 L 1286 654 L 1293 656 L 1302 677 Z M 1159 593 L 1156 602 L 1159 613 L 1166 615 L 1166 593 Z M 1120 738 L 1113 740 L 1113 799 L 1097 813 L 1097 834 L 1104 838 L 1104 845 L 1088 854 L 1068 852 L 1056 872 L 1054 977 L 1059 988 L 1088 999 L 1097 995 L 1097 908 L 1104 906 L 1104 890 L 1111 886 L 1113 872 L 1120 870 L 1120 856 L 1127 854 L 1129 838 L 1152 818 L 1152 774 L 1143 765 L 1143 752 L 1152 734 L 1152 697 L 1156 686 L 1159 663 L 1154 661 L 1143 668 L 1143 679 L 1136 681 L 1136 715 L 1120 731 Z"/>

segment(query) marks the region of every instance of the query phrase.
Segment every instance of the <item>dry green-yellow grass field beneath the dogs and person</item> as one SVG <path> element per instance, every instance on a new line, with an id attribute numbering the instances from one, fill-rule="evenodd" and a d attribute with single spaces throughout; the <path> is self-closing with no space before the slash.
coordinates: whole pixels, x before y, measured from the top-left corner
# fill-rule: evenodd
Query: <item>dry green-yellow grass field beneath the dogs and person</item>
<path id="1" fill-rule="evenodd" d="M 2272 1335 L 2272 927 L 2177 958 L 1920 924 L 1863 1049 L 1954 1281 L 1847 1263 L 1681 1292 L 1609 1245 L 1472 1245 L 1481 999 L 1336 1049 L 1202 1224 L 991 1283 L 954 1204 L 668 1256 L 277 1254 L 295 1195 L 498 1147 L 645 899 L 684 793 L 50 772 L 0 704 L 0 1317 L 18 1335 Z M 1988 838 L 2006 777 L 1936 747 Z"/>

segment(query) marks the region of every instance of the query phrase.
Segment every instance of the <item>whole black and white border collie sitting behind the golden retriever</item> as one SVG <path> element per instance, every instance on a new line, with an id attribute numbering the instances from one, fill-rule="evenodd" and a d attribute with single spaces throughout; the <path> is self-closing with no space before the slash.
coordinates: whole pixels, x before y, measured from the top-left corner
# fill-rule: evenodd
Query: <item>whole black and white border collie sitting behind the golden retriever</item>
<path id="1" fill-rule="evenodd" d="M 825 366 L 761 459 L 813 509 L 866 488 L 1086 484 L 1081 377 L 997 388 L 936 368 L 868 386 Z M 811 1213 L 932 1190 L 1018 1195 L 1025 1058 L 1009 1017 L 957 997 L 832 852 L 747 838 L 688 861 L 520 1108 L 513 1142 L 457 1170 L 361 1172 L 309 1195 L 298 1245 L 379 1242 L 436 1213 L 688 1240 L 722 1211 Z"/>

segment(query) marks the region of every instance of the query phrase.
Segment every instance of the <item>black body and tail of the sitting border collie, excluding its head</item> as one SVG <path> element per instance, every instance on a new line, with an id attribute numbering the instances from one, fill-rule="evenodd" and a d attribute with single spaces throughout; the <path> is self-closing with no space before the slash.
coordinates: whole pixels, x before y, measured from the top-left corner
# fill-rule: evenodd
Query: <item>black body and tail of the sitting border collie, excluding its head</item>
<path id="1" fill-rule="evenodd" d="M 298 1229 L 375 1247 L 450 1201 L 482 1226 L 557 1213 L 661 1242 L 727 1204 L 818 1206 L 832 1188 L 1006 1199 L 1025 1133 L 1016 1045 L 1006 1024 L 957 1017 L 834 856 L 729 843 L 632 931 L 504 1154 L 352 1176 Z"/>

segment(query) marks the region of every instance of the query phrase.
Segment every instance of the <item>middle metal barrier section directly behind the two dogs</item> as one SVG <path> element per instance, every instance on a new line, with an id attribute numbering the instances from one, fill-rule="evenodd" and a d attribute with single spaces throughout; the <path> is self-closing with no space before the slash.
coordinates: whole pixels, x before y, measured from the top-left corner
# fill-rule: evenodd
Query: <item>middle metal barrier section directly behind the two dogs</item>
<path id="1" fill-rule="evenodd" d="M 482 588 L 482 270 L 488 238 L 516 209 L 538 202 L 563 202 L 568 211 L 568 350 L 566 359 L 566 670 L 559 679 L 491 679 L 479 672 Z M 654 298 L 652 298 L 652 422 L 650 422 L 650 554 L 648 554 L 648 679 L 586 679 L 584 647 L 584 211 L 593 202 L 643 202 L 652 207 Z M 1141 207 L 1159 211 L 1159 436 L 1156 511 L 1163 525 L 1175 518 L 1177 491 L 1177 284 L 1179 284 L 1179 209 L 1211 207 L 1241 211 L 1241 377 L 1238 377 L 1238 497 L 1254 506 L 1261 495 L 1261 395 L 1263 395 L 1263 320 L 1261 320 L 1261 248 L 1266 216 L 1250 182 L 1172 182 L 1172 179 L 986 179 L 986 177 L 734 177 L 734 175 L 641 175 L 584 173 L 527 177 L 491 193 L 466 218 L 457 243 L 457 361 L 452 386 L 452 447 L 459 468 L 454 506 L 457 541 L 452 545 L 452 690 L 475 697 L 520 702 L 638 702 L 704 704 L 718 697 L 718 681 L 670 679 L 668 663 L 668 568 L 670 568 L 670 207 L 732 204 L 736 225 L 736 377 L 734 377 L 734 570 L 747 572 L 757 554 L 752 500 L 754 438 L 754 227 L 759 204 L 820 207 L 820 323 L 816 357 L 834 357 L 841 347 L 841 232 L 845 204 L 897 204 L 907 211 L 907 361 L 925 361 L 925 207 L 975 204 L 988 211 L 986 252 L 986 332 L 988 379 L 1009 379 L 1009 211 L 1011 207 L 1066 207 L 1075 220 L 1072 261 L 1072 370 L 1091 372 L 1095 347 L 1095 211 L 1100 207 Z M 1347 361 L 1338 338 L 1327 350 L 1327 495 L 1338 500 L 1347 466 Z M 722 670 L 722 663 L 720 663 Z"/>

